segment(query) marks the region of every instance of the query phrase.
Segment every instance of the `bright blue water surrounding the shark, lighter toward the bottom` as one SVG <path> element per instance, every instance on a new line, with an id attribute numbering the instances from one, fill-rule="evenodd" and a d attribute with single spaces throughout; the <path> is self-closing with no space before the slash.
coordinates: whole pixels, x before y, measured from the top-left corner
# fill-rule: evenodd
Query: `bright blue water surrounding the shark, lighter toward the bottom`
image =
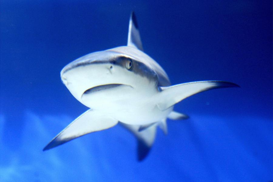
<path id="1" fill-rule="evenodd" d="M 0 181 L 272 181 L 272 1 L 1 0 Z M 42 148 L 87 110 L 59 72 L 126 45 L 134 10 L 144 51 L 172 84 L 224 80 L 175 110 L 150 154 L 120 125 Z"/>

